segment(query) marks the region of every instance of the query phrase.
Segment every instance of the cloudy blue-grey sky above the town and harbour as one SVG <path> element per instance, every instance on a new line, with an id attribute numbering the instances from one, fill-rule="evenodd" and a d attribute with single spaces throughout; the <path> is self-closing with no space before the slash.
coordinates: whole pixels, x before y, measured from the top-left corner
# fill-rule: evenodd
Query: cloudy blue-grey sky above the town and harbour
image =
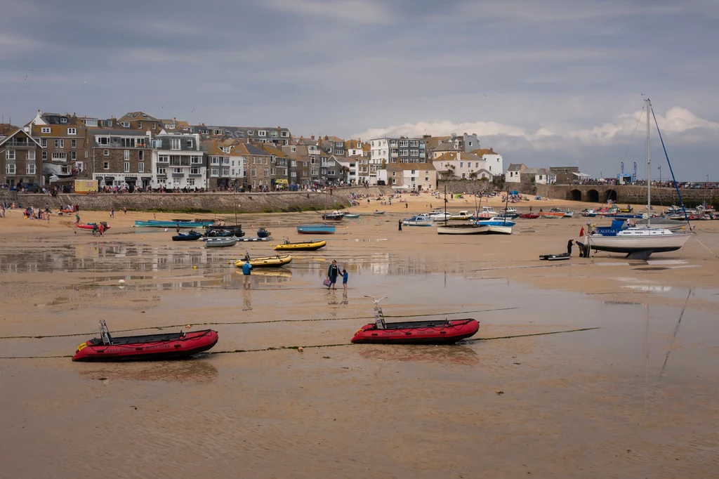
<path id="1" fill-rule="evenodd" d="M 505 165 L 719 181 L 717 0 L 3 0 L 0 114 L 142 110 L 370 137 L 477 133 Z M 652 177 L 668 168 L 652 131 Z M 626 157 L 625 157 L 626 155 Z"/>

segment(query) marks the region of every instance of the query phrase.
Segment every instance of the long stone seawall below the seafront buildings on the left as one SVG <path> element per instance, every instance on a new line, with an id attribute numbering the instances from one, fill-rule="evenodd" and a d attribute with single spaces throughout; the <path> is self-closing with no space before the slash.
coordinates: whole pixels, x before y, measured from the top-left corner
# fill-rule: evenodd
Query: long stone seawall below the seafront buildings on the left
<path id="1" fill-rule="evenodd" d="M 77 204 L 81 210 L 109 211 L 127 208 L 131 211 L 179 211 L 196 213 L 272 213 L 308 209 L 337 209 L 349 206 L 349 196 L 355 194 L 387 194 L 392 188 L 339 188 L 331 195 L 306 191 L 274 193 L 101 193 L 96 196 L 78 194 L 50 195 L 0 191 L 0 202 L 15 202 L 33 208 L 58 209 L 65 204 Z"/>

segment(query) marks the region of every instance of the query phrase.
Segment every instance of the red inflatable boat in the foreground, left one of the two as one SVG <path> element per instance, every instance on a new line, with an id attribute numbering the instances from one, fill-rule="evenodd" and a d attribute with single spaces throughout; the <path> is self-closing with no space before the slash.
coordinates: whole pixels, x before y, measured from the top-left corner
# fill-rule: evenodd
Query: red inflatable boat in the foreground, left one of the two
<path id="1" fill-rule="evenodd" d="M 178 359 L 211 349 L 217 344 L 217 339 L 217 332 L 212 329 L 112 337 L 105 320 L 102 319 L 100 337 L 88 339 L 79 345 L 73 361 Z"/>

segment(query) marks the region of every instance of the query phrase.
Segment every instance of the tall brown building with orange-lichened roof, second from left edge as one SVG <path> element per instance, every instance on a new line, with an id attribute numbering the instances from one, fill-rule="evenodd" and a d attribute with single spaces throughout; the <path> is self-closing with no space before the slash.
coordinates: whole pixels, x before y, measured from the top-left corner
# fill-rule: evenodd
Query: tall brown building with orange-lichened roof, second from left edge
<path id="1" fill-rule="evenodd" d="M 71 178 L 82 175 L 86 168 L 86 125 L 75 114 L 42 113 L 27 124 L 33 137 L 42 145 L 42 175 L 50 178 Z"/>

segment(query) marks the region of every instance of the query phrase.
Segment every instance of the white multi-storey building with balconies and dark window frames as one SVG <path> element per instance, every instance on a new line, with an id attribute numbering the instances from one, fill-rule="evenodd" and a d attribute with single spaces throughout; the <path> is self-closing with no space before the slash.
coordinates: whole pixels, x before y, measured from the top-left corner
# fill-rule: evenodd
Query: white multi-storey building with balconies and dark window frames
<path id="1" fill-rule="evenodd" d="M 152 139 L 152 188 L 208 187 L 207 163 L 196 133 L 162 133 Z"/>

